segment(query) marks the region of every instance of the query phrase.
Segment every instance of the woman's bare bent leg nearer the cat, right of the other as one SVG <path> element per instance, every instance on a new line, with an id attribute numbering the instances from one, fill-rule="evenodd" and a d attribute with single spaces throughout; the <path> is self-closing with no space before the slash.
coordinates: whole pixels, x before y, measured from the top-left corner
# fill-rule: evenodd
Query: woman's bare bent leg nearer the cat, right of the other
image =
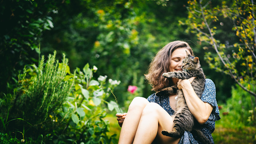
<path id="1" fill-rule="evenodd" d="M 134 144 L 178 144 L 180 138 L 164 136 L 162 130 L 173 130 L 173 119 L 160 105 L 149 103 L 143 109 Z"/>

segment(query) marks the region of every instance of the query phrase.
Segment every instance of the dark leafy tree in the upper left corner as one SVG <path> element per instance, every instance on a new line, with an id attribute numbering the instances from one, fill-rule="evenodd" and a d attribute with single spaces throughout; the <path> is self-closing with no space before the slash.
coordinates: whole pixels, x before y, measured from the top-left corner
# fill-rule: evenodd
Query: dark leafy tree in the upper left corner
<path id="1" fill-rule="evenodd" d="M 61 4 L 52 0 L 0 1 L 0 94 L 6 94 L 8 88 L 12 91 L 25 64 L 38 61 L 42 33 L 53 28 L 49 14 Z"/>

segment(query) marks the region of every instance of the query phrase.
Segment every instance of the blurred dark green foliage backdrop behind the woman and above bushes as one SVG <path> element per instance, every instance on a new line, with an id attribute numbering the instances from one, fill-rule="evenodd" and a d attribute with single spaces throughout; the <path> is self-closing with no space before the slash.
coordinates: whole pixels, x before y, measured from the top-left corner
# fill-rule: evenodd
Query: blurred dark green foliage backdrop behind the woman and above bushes
<path id="1" fill-rule="evenodd" d="M 126 100 L 122 92 L 132 83 L 140 87 L 155 53 L 170 41 L 186 40 L 200 57 L 208 78 L 218 82 L 217 98 L 224 95 L 219 101 L 230 97 L 232 80 L 225 81 L 224 75 L 217 77 L 218 73 L 208 69 L 202 46 L 194 35 L 185 33 L 187 26 L 179 24 L 187 19 L 187 0 L 4 0 L 1 4 L 0 20 L 6 22 L 6 27 L 1 27 L 0 60 L 5 62 L 1 67 L 6 68 L 0 74 L 1 96 L 12 92 L 24 64 L 37 62 L 39 52 L 48 55 L 56 50 L 58 59 L 60 53 L 66 54 L 71 70 L 90 63 L 101 69 L 97 76 L 108 75 L 122 81 L 116 88 L 122 104 Z M 140 96 L 148 97 L 151 86 L 144 81 L 142 87 Z"/>

